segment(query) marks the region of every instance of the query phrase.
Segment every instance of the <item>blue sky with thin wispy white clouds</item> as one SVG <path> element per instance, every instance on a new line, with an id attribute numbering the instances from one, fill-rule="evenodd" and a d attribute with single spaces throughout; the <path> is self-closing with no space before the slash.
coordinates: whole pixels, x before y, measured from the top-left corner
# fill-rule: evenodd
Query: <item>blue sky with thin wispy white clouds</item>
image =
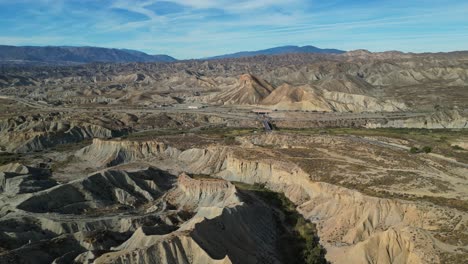
<path id="1" fill-rule="evenodd" d="M 179 59 L 282 45 L 468 50 L 468 1 L 0 0 L 0 44 L 128 48 Z"/>

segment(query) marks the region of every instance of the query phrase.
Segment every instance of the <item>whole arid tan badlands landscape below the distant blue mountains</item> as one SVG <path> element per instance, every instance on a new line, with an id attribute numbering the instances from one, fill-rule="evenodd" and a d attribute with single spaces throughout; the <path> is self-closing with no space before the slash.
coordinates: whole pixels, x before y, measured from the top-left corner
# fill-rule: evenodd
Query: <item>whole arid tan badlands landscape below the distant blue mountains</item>
<path id="1" fill-rule="evenodd" d="M 468 52 L 0 68 L 0 263 L 466 263 Z"/>

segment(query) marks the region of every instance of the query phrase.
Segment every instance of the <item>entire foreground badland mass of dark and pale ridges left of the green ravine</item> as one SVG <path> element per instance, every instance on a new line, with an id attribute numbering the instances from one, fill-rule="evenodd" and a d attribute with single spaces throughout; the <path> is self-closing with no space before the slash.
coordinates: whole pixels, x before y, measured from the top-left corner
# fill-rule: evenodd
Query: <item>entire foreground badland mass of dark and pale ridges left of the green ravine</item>
<path id="1" fill-rule="evenodd" d="M 11 199 L 0 262 L 282 263 L 284 227 L 255 196 L 221 179 L 119 168 Z"/>

